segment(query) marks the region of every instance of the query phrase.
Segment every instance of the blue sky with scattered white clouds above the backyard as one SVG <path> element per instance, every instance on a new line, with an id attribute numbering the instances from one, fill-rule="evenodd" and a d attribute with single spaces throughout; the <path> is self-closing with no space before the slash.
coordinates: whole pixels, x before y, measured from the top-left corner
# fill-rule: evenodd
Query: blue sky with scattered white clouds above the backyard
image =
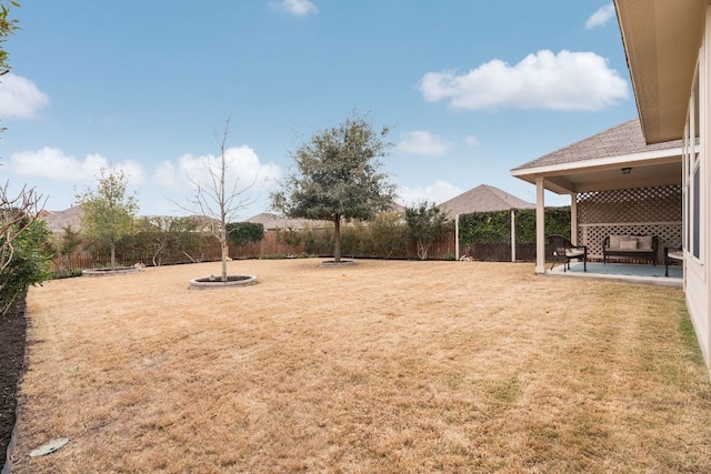
<path id="1" fill-rule="evenodd" d="M 140 215 L 184 215 L 220 157 L 233 220 L 270 211 L 293 152 L 388 127 L 398 202 L 480 184 L 637 117 L 611 1 L 22 1 L 0 78 L 0 184 L 61 211 L 121 171 Z M 569 196 L 547 193 L 547 205 Z"/>

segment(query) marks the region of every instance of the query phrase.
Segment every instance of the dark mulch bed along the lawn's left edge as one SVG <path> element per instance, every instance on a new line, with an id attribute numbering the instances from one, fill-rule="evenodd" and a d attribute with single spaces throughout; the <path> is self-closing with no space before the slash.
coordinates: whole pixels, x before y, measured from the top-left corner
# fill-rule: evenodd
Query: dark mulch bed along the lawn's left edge
<path id="1" fill-rule="evenodd" d="M 4 466 L 14 427 L 18 383 L 24 365 L 24 309 L 22 297 L 0 315 L 0 468 Z"/>

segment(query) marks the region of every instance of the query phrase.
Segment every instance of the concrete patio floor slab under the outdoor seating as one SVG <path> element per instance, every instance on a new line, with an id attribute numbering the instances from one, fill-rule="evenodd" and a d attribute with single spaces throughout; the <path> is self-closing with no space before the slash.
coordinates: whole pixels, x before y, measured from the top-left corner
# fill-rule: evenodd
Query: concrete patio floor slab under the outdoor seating
<path id="1" fill-rule="evenodd" d="M 630 283 L 645 283 L 662 286 L 683 288 L 683 269 L 680 265 L 669 265 L 669 276 L 664 276 L 664 265 L 640 265 L 630 263 L 599 263 L 588 262 L 588 271 L 583 271 L 582 262 L 571 263 L 570 270 L 563 272 L 563 265 L 557 264 L 553 270 L 545 269 L 551 276 L 583 278 L 598 280 L 617 280 Z"/>

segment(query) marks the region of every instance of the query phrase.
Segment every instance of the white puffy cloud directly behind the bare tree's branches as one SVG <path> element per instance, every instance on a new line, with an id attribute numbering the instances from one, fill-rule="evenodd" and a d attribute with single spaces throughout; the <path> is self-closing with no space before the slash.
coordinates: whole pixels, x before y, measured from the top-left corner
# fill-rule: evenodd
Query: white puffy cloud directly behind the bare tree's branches
<path id="1" fill-rule="evenodd" d="M 262 164 L 254 150 L 247 145 L 232 147 L 224 152 L 227 159 L 228 192 L 241 191 L 254 184 L 246 194 L 269 189 L 280 177 L 279 167 Z M 153 171 L 152 182 L 163 188 L 194 191 L 196 183 L 211 185 L 210 167 L 219 175 L 220 157 L 183 154 L 176 163 L 163 161 Z"/>

